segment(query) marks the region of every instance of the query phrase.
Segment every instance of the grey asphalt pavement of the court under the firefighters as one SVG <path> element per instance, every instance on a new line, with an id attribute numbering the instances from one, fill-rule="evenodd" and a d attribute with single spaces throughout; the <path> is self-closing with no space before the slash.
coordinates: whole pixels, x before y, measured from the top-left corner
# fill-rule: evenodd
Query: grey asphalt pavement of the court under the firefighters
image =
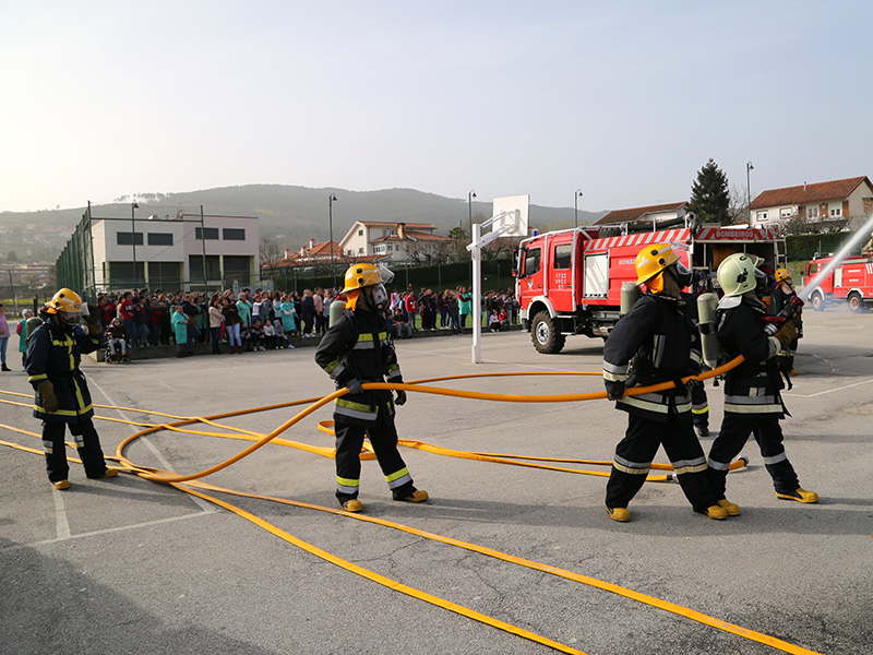
<path id="1" fill-rule="evenodd" d="M 375 462 L 363 462 L 367 515 L 565 569 L 703 612 L 812 652 L 873 652 L 873 313 L 804 312 L 804 338 L 786 449 L 820 503 L 776 498 L 754 442 L 746 469 L 728 478 L 742 514 L 716 522 L 692 512 L 678 485 L 647 483 L 633 521 L 606 514 L 606 478 L 447 457 L 404 448 L 431 500 L 393 502 Z M 14 342 L 14 340 L 13 340 Z M 599 340 L 569 337 L 540 355 L 521 332 L 483 335 L 485 362 L 465 336 L 398 342 L 407 380 L 497 372 L 600 371 Z M 3 392 L 31 393 L 17 354 Z M 160 425 L 320 397 L 333 391 L 311 347 L 244 355 L 86 360 L 107 419 Z M 433 383 L 504 394 L 600 391 L 597 377 L 515 376 Z M 707 385 L 718 429 L 723 386 Z M 398 408 L 402 439 L 447 449 L 609 461 L 626 422 L 607 401 L 500 403 L 410 393 Z M 0 400 L 29 403 L 9 393 Z M 286 407 L 222 422 L 266 433 Z M 332 445 L 319 409 L 282 434 Z M 27 407 L 0 404 L 0 440 L 40 449 Z M 107 454 L 142 429 L 99 420 Z M 203 431 L 218 428 L 201 426 Z M 711 439 L 702 440 L 708 452 Z M 176 473 L 213 466 L 248 445 L 236 439 L 158 431 L 125 454 Z M 71 454 L 73 452 L 71 451 Z M 659 452 L 658 462 L 667 462 Z M 605 471 L 583 464 L 559 467 Z M 222 487 L 338 508 L 334 463 L 270 444 L 205 478 Z M 0 446 L 0 635 L 2 654 L 63 653 L 553 653 L 540 645 L 355 575 L 172 487 L 132 475 L 88 480 L 72 464 L 68 491 L 49 485 L 41 455 Z M 218 495 L 216 495 L 218 496 Z M 584 653 L 779 653 L 637 600 L 421 536 L 354 519 L 222 495 L 327 552 L 451 603 Z"/>

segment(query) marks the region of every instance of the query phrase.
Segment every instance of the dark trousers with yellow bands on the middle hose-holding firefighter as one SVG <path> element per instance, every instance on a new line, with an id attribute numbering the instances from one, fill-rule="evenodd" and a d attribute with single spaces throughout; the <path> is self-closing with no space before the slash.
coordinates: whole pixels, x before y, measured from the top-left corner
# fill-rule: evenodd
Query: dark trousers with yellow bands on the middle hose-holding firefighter
<path id="1" fill-rule="evenodd" d="M 336 417 L 335 417 L 336 418 Z M 397 450 L 397 429 L 387 408 L 379 408 L 374 426 L 352 426 L 336 419 L 336 498 L 345 502 L 358 497 L 361 477 L 360 452 L 364 436 L 370 439 L 375 458 L 385 476 L 392 496 L 402 500 L 415 492 L 412 477 Z"/>

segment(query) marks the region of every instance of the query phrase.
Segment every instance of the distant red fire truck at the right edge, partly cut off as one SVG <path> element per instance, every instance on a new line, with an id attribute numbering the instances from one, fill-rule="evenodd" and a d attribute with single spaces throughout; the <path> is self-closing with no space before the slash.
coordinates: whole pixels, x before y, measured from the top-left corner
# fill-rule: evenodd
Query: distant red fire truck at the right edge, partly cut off
<path id="1" fill-rule="evenodd" d="M 806 264 L 804 284 L 812 281 L 832 260 L 824 257 Z M 873 258 L 850 257 L 821 279 L 810 295 L 815 311 L 827 305 L 848 302 L 852 311 L 866 311 L 873 305 Z"/>

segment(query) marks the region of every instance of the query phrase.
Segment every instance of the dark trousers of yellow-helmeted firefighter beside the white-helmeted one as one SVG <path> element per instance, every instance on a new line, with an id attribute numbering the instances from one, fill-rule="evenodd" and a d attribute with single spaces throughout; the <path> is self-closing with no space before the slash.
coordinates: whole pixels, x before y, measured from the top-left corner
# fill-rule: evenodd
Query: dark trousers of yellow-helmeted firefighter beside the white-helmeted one
<path id="1" fill-rule="evenodd" d="M 659 445 L 663 445 L 694 511 L 706 512 L 709 505 L 716 504 L 706 457 L 694 434 L 691 414 L 671 415 L 666 422 L 629 414 L 627 430 L 615 446 L 615 460 L 607 483 L 607 507 L 627 507 L 646 481 Z"/>

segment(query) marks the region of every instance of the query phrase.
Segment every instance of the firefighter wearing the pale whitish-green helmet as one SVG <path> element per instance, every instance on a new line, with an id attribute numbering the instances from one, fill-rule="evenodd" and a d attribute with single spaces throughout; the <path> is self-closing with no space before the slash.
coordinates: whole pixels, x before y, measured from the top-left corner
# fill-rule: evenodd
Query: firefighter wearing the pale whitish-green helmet
<path id="1" fill-rule="evenodd" d="M 756 264 L 757 258 L 736 253 L 721 262 L 717 272 L 725 294 L 718 303 L 718 341 L 728 359 L 742 355 L 745 361 L 725 376 L 725 416 L 709 451 L 709 478 L 718 498 L 723 499 L 728 466 L 749 436 L 754 434 L 776 496 L 798 502 L 817 502 L 817 493 L 800 486 L 786 456 L 779 427 L 786 409 L 779 394 L 784 385 L 776 355 L 797 337 L 794 319 L 767 336 L 762 320 L 766 306 L 758 300 L 755 290 L 764 274 Z"/>

